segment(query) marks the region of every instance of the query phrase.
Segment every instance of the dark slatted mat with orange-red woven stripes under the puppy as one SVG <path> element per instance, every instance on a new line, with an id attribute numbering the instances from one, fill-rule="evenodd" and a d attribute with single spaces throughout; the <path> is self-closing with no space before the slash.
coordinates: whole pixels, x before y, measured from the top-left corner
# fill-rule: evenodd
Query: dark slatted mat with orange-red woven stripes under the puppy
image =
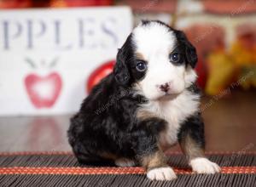
<path id="1" fill-rule="evenodd" d="M 0 186 L 256 186 L 256 154 L 208 153 L 222 168 L 196 174 L 180 153 L 168 153 L 173 181 L 151 181 L 142 167 L 79 165 L 70 152 L 0 153 Z"/>

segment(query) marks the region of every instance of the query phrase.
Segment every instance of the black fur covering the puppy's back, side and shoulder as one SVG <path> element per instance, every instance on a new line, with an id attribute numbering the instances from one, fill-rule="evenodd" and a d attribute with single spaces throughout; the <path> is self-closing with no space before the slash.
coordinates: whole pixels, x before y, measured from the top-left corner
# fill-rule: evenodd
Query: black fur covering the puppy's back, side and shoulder
<path id="1" fill-rule="evenodd" d="M 132 88 L 120 86 L 113 74 L 98 84 L 84 99 L 68 130 L 69 143 L 79 161 L 104 160 L 99 156 L 102 152 L 136 159 L 148 147 L 154 148 L 166 122 L 159 118 L 138 121 L 137 107 L 144 102 L 147 99 Z"/>

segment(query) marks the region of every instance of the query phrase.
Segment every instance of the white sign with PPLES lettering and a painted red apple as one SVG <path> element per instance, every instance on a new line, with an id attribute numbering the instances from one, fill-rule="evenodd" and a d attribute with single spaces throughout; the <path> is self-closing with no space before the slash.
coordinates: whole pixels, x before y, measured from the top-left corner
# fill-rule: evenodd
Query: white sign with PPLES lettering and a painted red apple
<path id="1" fill-rule="evenodd" d="M 115 59 L 131 9 L 0 11 L 0 115 L 73 113 L 88 77 Z"/>

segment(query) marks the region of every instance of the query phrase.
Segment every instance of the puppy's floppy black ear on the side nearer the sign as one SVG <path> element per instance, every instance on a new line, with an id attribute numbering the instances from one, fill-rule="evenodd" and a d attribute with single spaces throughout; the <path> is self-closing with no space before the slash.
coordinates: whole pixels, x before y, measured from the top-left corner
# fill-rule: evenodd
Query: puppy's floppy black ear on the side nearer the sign
<path id="1" fill-rule="evenodd" d="M 130 73 L 128 70 L 127 65 L 125 64 L 125 53 L 123 51 L 124 49 L 119 49 L 119 52 L 117 54 L 116 58 L 116 64 L 113 68 L 113 75 L 115 77 L 115 80 L 120 84 L 125 86 L 130 82 Z"/>

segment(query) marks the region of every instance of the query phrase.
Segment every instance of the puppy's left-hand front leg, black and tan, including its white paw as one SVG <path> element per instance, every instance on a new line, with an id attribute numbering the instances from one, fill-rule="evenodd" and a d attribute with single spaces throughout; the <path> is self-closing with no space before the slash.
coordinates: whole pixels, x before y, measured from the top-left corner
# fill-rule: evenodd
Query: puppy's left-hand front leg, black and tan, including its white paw
<path id="1" fill-rule="evenodd" d="M 141 118 L 142 119 L 142 118 Z M 159 134 L 166 127 L 166 121 L 157 117 L 143 118 L 138 124 L 136 137 L 137 161 L 145 168 L 147 177 L 152 180 L 172 180 L 176 174 L 166 162 L 166 157 L 160 150 Z"/>

